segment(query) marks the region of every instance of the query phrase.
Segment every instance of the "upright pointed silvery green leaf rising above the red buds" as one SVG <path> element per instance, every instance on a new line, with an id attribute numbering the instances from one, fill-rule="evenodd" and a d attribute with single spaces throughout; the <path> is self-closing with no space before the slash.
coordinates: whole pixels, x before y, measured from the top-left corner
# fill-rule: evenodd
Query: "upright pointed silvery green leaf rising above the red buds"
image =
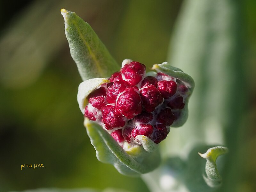
<path id="1" fill-rule="evenodd" d="M 120 69 L 88 23 L 75 12 L 61 9 L 61 14 L 65 20 L 70 54 L 83 80 L 108 77 Z"/>

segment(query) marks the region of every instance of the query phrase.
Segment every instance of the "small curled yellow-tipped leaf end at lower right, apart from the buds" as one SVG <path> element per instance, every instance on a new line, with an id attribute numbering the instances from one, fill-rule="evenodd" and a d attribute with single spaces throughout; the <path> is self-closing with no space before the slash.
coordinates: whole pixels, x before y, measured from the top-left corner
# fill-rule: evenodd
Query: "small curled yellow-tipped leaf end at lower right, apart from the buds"
<path id="1" fill-rule="evenodd" d="M 209 148 L 204 154 L 198 153 L 201 157 L 206 159 L 206 175 L 203 175 L 203 177 L 209 187 L 219 187 L 221 185 L 222 178 L 217 169 L 216 159 L 218 156 L 223 155 L 227 152 L 228 148 L 218 146 Z"/>

